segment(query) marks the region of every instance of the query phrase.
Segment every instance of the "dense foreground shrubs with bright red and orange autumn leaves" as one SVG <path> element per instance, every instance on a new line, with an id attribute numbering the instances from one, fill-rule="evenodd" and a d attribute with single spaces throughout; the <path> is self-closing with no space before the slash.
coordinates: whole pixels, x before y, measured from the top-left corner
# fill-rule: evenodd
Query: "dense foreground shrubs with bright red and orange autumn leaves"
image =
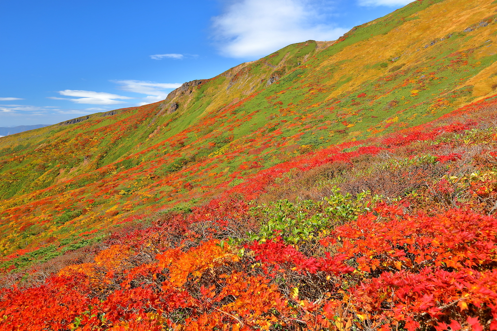
<path id="1" fill-rule="evenodd" d="M 0 327 L 496 330 L 496 109 L 310 152 L 40 264 Z"/>

